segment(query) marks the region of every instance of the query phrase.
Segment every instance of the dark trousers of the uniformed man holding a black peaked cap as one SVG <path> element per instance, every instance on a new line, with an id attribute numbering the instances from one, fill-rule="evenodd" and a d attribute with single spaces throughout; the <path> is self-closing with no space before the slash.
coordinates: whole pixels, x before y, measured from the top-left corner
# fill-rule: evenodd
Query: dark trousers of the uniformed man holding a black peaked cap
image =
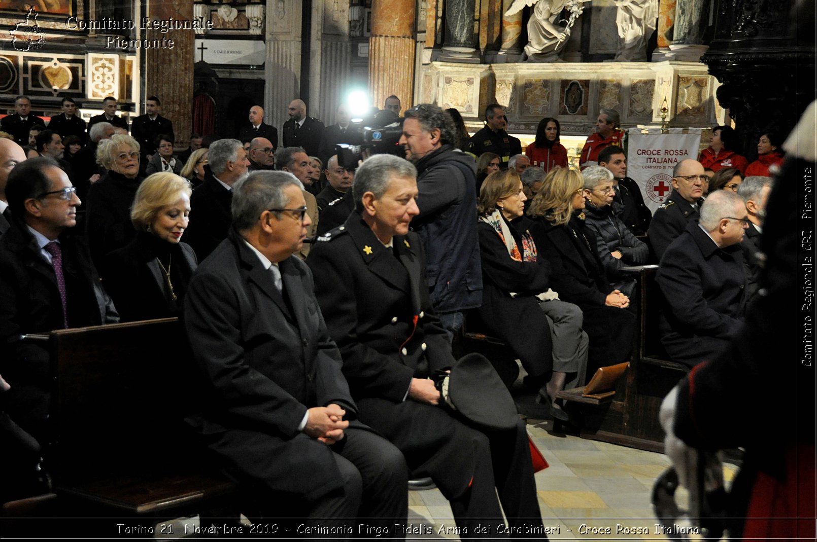
<path id="1" fill-rule="evenodd" d="M 538 527 L 541 535 L 542 516 L 522 420 L 515 429 L 489 431 L 471 427 L 443 407 L 412 400 L 364 398 L 358 400 L 358 408 L 364 424 L 400 448 L 413 476 L 434 480 L 451 504 L 462 540 L 505 537 L 496 528 L 502 524 L 502 510 L 511 527 L 529 526 L 534 532 Z M 490 529 L 478 531 L 480 525 Z"/>

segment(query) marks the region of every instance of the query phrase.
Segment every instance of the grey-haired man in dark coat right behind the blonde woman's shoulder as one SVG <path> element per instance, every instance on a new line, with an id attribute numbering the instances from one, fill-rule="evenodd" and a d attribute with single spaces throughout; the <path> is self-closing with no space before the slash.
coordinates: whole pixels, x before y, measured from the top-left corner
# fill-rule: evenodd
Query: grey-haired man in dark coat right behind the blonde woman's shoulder
<path id="1" fill-rule="evenodd" d="M 239 140 L 210 145 L 204 181 L 190 196 L 190 225 L 182 241 L 204 260 L 227 237 L 232 215 L 233 184 L 247 175 L 250 161 Z"/>

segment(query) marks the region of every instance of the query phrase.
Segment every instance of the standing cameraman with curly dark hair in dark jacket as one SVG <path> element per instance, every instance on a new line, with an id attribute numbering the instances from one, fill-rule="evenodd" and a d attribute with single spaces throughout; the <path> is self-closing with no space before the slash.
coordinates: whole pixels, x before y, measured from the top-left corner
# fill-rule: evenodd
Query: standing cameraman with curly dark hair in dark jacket
<path id="1" fill-rule="evenodd" d="M 458 136 L 448 113 L 419 104 L 404 115 L 400 144 L 418 173 L 420 214 L 412 226 L 426 247 L 431 303 L 453 338 L 462 327 L 462 312 L 482 304 L 476 165 L 454 147 Z"/>

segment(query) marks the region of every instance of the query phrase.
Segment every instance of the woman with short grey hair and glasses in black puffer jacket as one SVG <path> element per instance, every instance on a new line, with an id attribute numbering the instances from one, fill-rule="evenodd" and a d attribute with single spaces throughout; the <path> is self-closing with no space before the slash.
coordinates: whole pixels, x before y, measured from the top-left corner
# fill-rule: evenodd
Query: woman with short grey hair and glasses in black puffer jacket
<path id="1" fill-rule="evenodd" d="M 613 174 L 605 167 L 590 166 L 582 171 L 582 176 L 587 201 L 585 224 L 596 233 L 596 248 L 610 286 L 632 298 L 636 280 L 622 269 L 647 263 L 650 249 L 621 220 L 622 205 L 614 201 Z"/>

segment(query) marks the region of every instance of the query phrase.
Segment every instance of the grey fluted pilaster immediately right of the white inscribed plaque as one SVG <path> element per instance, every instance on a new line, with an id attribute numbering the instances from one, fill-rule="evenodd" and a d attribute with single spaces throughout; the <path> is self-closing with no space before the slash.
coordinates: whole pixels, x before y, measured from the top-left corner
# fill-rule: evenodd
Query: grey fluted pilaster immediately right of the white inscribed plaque
<path id="1" fill-rule="evenodd" d="M 280 136 L 289 120 L 289 102 L 301 93 L 301 2 L 270 2 L 264 79 L 264 118 L 278 128 Z M 312 116 L 311 109 L 306 114 Z"/>

